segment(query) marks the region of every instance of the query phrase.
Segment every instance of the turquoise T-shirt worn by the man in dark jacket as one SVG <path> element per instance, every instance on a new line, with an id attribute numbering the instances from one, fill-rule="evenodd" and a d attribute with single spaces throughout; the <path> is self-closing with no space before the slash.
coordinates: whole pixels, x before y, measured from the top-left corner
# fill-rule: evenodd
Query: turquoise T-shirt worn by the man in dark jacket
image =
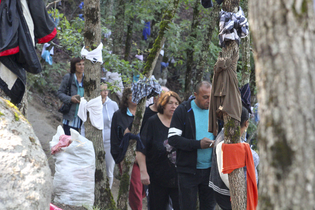
<path id="1" fill-rule="evenodd" d="M 192 111 L 195 116 L 196 124 L 196 140 L 201 140 L 207 137 L 214 140 L 212 133 L 208 132 L 208 117 L 209 110 L 200 109 L 194 100 L 190 102 Z M 197 168 L 206 169 L 211 167 L 213 148 L 198 149 L 197 150 Z"/>

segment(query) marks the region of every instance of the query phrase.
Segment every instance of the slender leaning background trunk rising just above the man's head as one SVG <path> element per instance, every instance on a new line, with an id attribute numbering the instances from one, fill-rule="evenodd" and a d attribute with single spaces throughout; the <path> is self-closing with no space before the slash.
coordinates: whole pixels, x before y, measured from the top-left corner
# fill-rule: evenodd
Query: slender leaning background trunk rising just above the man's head
<path id="1" fill-rule="evenodd" d="M 205 25 L 205 34 L 203 35 L 202 46 L 200 50 L 200 54 L 197 58 L 197 66 L 196 66 L 196 77 L 195 77 L 195 84 L 203 80 L 203 73 L 206 68 L 206 60 L 208 58 L 209 46 L 212 37 L 212 33 L 218 21 L 218 16 L 220 13 L 221 6 L 217 3 L 213 4 L 213 9 L 209 16 L 209 19 Z"/>

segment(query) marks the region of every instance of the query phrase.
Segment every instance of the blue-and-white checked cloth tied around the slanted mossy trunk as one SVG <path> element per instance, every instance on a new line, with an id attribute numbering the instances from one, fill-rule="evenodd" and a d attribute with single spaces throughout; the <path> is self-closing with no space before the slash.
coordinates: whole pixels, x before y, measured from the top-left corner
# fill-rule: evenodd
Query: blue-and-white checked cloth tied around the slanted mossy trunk
<path id="1" fill-rule="evenodd" d="M 154 79 L 143 77 L 132 83 L 132 102 L 139 103 L 142 97 L 155 97 L 162 92 L 161 85 Z"/>

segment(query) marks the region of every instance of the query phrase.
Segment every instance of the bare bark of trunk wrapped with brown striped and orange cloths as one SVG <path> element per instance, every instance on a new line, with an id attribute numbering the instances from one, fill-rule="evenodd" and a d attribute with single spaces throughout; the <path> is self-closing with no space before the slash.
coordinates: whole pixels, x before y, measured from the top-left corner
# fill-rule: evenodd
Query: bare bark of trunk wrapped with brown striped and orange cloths
<path id="1" fill-rule="evenodd" d="M 224 0 L 222 9 L 226 12 L 236 13 L 238 11 L 238 0 Z M 234 53 L 238 53 L 238 45 L 235 40 L 226 41 L 226 47 L 222 48 L 222 58 L 231 58 Z M 224 143 L 240 143 L 240 122 L 223 114 L 224 118 Z M 231 203 L 233 210 L 246 210 L 246 182 L 243 168 L 238 168 L 228 175 L 230 184 Z"/>

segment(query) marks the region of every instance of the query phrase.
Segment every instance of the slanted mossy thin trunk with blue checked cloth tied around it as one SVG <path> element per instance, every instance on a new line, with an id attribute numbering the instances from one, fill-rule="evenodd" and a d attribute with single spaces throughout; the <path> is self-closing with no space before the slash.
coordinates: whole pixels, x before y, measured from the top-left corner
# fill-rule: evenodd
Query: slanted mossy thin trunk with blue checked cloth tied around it
<path id="1" fill-rule="evenodd" d="M 167 30 L 170 29 L 170 22 L 175 15 L 179 0 L 171 0 L 169 2 L 169 7 L 165 11 L 165 14 L 160 23 L 160 31 L 158 32 L 157 39 L 153 45 L 153 48 L 150 50 L 150 54 L 148 56 L 148 60 L 145 63 L 143 75 L 147 78 L 151 78 L 153 69 L 157 63 L 157 57 L 161 51 L 161 48 L 165 42 L 164 34 Z M 131 132 L 133 134 L 137 134 L 140 132 L 143 113 L 145 109 L 145 101 L 146 98 L 143 97 L 137 105 L 137 110 L 135 114 L 135 118 L 132 123 Z M 124 159 L 124 167 L 123 167 L 123 175 L 120 181 L 119 186 L 119 194 L 117 199 L 117 207 L 121 210 L 127 210 L 127 199 L 130 185 L 130 177 L 132 171 L 132 165 L 135 160 L 135 149 L 136 149 L 136 141 L 130 140 L 129 146 L 126 152 L 126 157 Z"/>

